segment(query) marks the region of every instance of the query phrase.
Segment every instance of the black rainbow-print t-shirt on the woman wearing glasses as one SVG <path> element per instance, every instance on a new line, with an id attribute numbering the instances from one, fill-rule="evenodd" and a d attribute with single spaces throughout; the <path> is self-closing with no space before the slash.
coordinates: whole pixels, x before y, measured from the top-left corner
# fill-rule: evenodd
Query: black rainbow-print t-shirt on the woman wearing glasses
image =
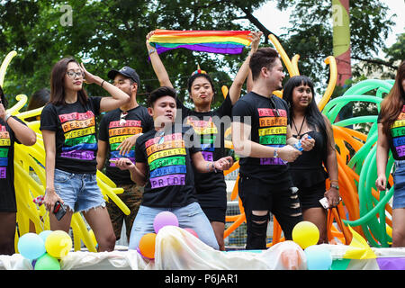
<path id="1" fill-rule="evenodd" d="M 97 138 L 95 116 L 100 113 L 101 97 L 89 97 L 65 105 L 48 103 L 40 115 L 40 130 L 56 132 L 55 168 L 69 173 L 96 171 Z"/>

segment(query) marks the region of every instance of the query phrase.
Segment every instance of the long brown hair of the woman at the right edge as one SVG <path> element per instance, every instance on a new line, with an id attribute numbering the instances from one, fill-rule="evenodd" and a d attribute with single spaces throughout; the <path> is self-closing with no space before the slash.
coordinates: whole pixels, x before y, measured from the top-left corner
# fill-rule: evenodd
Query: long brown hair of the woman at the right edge
<path id="1" fill-rule="evenodd" d="M 402 87 L 403 79 L 405 79 L 405 60 L 403 60 L 400 67 L 398 67 L 395 83 L 390 93 L 381 103 L 380 115 L 382 115 L 381 123 L 383 124 L 383 132 L 389 137 L 391 136 L 391 126 L 402 112 L 402 106 L 405 103 L 405 92 Z"/>

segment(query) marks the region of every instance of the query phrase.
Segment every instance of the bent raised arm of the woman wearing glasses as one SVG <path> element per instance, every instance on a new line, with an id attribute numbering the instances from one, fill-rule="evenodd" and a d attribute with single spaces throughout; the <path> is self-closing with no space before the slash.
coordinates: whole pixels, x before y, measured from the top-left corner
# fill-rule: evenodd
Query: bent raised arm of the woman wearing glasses
<path id="1" fill-rule="evenodd" d="M 111 111 L 118 107 L 128 103 L 130 101 L 130 95 L 121 91 L 120 88 L 112 85 L 108 81 L 103 80 L 99 76 L 94 76 L 85 69 L 83 63 L 81 64 L 83 72 L 85 73 L 85 82 L 87 84 L 95 83 L 103 87 L 105 91 L 111 94 L 111 97 L 103 97 L 100 102 L 100 112 Z"/>

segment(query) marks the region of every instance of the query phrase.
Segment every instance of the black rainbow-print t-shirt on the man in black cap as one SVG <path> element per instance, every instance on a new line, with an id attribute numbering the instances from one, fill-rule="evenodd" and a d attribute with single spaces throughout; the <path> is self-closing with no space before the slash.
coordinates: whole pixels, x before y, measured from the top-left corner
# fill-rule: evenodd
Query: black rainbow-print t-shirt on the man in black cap
<path id="1" fill-rule="evenodd" d="M 117 148 L 125 139 L 153 129 L 153 118 L 148 114 L 148 109 L 143 106 L 130 109 L 125 117 L 121 117 L 121 113 L 121 109 L 106 113 L 100 121 L 98 136 L 100 140 L 107 142 L 108 147 L 105 174 L 115 184 L 133 184 L 130 180 L 130 172 L 117 168 L 115 163 L 109 160 L 128 157 L 135 163 L 135 145 L 130 148 L 130 152 L 126 155 L 120 155 L 120 150 Z"/>

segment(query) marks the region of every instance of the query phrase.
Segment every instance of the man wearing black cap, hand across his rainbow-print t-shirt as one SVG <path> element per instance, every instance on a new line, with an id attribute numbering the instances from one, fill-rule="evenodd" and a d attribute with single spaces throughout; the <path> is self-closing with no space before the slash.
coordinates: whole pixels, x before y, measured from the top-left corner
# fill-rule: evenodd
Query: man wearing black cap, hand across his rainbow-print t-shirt
<path id="1" fill-rule="evenodd" d="M 148 109 L 137 103 L 137 91 L 140 84 L 137 72 L 131 67 L 125 66 L 120 70 L 112 69 L 108 72 L 108 77 L 121 91 L 130 95 L 130 102 L 106 113 L 100 121 L 97 169 L 103 168 L 107 158 L 106 175 L 124 190 L 118 196 L 130 209 L 130 215 L 125 215 L 114 202 L 108 202 L 107 209 L 117 240 L 121 238 L 123 220 L 125 220 L 127 239 L 129 239 L 132 222 L 142 199 L 143 187 L 134 184 L 130 180 L 130 173 L 117 168 L 115 161 L 120 157 L 128 157 L 135 162 L 135 141 L 139 135 L 153 129 L 154 124 L 152 117 L 148 114 Z"/>

